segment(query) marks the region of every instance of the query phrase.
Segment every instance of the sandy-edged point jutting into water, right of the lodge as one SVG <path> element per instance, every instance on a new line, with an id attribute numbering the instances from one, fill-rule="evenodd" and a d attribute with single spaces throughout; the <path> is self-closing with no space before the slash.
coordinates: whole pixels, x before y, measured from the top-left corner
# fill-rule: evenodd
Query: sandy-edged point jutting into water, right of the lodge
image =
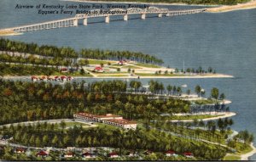
<path id="1" fill-rule="evenodd" d="M 196 115 L 196 114 L 194 114 L 194 115 Z M 199 113 L 199 114 L 197 114 L 197 115 L 209 115 L 209 114 L 206 114 L 206 113 L 204 113 L 204 114 L 202 114 L 202 113 Z M 229 117 L 231 117 L 231 116 L 235 116 L 236 115 L 236 113 L 234 113 L 234 112 L 214 112 L 213 114 L 211 114 L 211 115 L 221 115 L 221 116 L 216 116 L 216 117 L 212 117 L 212 118 L 206 118 L 206 119 L 202 119 L 203 121 L 207 121 L 207 120 L 218 120 L 218 119 L 222 119 L 222 118 L 229 118 Z M 172 121 L 172 122 L 177 122 L 177 121 L 183 121 L 183 122 L 193 122 L 194 120 L 170 120 L 170 121 Z"/>

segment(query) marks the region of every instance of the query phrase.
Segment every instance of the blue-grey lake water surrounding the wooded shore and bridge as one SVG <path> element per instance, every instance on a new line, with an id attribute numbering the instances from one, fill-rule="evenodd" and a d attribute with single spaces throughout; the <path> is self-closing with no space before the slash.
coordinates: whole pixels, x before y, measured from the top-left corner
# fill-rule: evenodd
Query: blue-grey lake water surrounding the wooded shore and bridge
<path id="1" fill-rule="evenodd" d="M 39 15 L 35 9 L 13 10 L 15 3 L 62 3 L 43 0 L 1 0 L 0 28 L 55 20 L 70 15 Z M 172 9 L 200 8 L 172 6 Z M 4 16 L 2 16 L 4 15 Z M 137 16 L 138 17 L 138 16 Z M 119 18 L 116 18 L 119 19 Z M 102 20 L 92 20 L 102 21 Z M 165 84 L 195 85 L 209 92 L 218 87 L 224 92 L 233 117 L 233 129 L 247 129 L 256 137 L 256 9 L 222 14 L 189 14 L 177 17 L 146 20 L 112 21 L 73 28 L 32 31 L 9 39 L 38 44 L 131 50 L 155 55 L 170 67 L 207 69 L 212 66 L 220 73 L 234 75 L 233 79 L 158 79 Z M 148 82 L 148 79 L 142 80 Z M 254 143 L 256 140 L 254 140 Z M 254 155 L 251 159 L 256 159 Z"/>

